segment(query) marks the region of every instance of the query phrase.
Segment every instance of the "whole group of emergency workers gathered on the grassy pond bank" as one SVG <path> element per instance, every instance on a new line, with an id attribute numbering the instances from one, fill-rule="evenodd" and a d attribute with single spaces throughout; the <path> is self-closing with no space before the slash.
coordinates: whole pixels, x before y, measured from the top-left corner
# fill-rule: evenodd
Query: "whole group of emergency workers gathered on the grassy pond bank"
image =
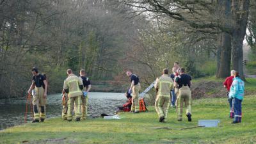
<path id="1" fill-rule="evenodd" d="M 32 68 L 32 84 L 29 87 L 28 93 L 33 95 L 33 122 L 44 122 L 45 120 L 45 104 L 47 98 L 48 83 L 44 75 L 38 72 L 37 68 Z M 185 74 L 185 68 L 180 68 L 179 63 L 175 62 L 172 68 L 173 74 L 168 74 L 167 68 L 163 69 L 162 76 L 156 79 L 154 84 L 157 92 L 155 108 L 159 117 L 159 122 L 167 121 L 168 109 L 175 107 L 177 111 L 177 120 L 182 121 L 183 104 L 186 108 L 186 116 L 191 122 L 191 76 Z M 67 79 L 63 84 L 62 94 L 62 118 L 63 120 L 72 121 L 72 113 L 74 109 L 75 120 L 85 120 L 88 109 L 88 92 L 91 89 L 90 79 L 86 77 L 84 69 L 80 70 L 80 76 L 73 74 L 71 69 L 67 70 Z M 140 79 L 131 71 L 126 72 L 131 79 L 127 96 L 127 106 L 125 111 L 131 113 L 140 113 L 139 92 L 141 89 Z M 231 76 L 225 79 L 223 86 L 227 88 L 228 102 L 230 104 L 230 118 L 234 118 L 232 124 L 241 122 L 242 111 L 241 103 L 244 95 L 244 82 L 239 78 L 236 70 L 231 70 Z M 132 97 L 131 97 L 132 93 Z M 172 100 L 170 97 L 172 95 Z M 176 99 L 177 98 L 177 99 Z M 131 103 L 131 109 L 129 104 Z M 124 107 L 124 106 L 123 106 Z"/>

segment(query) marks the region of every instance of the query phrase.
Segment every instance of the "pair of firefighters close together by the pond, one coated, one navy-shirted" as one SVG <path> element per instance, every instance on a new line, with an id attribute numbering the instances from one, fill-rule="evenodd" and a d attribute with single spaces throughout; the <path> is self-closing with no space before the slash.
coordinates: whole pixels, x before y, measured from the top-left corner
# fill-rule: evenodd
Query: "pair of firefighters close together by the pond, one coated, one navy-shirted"
<path id="1" fill-rule="evenodd" d="M 84 69 L 80 70 L 80 77 L 73 74 L 71 69 L 67 70 L 68 77 L 63 84 L 62 95 L 62 118 L 72 121 L 74 108 L 75 120 L 86 120 L 88 109 L 88 92 L 91 89 L 90 79 L 86 77 Z"/>

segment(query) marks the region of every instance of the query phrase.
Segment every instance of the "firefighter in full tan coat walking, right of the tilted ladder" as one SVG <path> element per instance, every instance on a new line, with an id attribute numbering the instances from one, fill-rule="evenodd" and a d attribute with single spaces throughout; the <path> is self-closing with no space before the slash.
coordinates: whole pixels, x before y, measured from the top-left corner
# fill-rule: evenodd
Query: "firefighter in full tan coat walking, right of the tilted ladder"
<path id="1" fill-rule="evenodd" d="M 172 88 L 173 80 L 168 76 L 168 69 L 164 68 L 163 75 L 159 79 L 156 79 L 155 84 L 155 89 L 157 90 L 155 108 L 159 122 L 166 122 L 170 106 L 170 91 Z"/>

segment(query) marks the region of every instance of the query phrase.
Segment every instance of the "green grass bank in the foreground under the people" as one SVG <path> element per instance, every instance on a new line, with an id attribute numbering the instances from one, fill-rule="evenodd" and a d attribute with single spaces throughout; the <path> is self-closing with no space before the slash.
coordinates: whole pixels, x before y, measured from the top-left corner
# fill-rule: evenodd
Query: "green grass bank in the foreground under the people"
<path id="1" fill-rule="evenodd" d="M 67 122 L 52 118 L 42 124 L 24 124 L 0 132 L 0 143 L 256 143 L 256 95 L 243 101 L 241 124 L 230 124 L 227 99 L 193 101 L 193 122 L 177 122 L 170 108 L 168 122 L 159 123 L 154 107 L 147 113 L 121 113 L 121 120 L 88 119 Z M 200 119 L 220 119 L 215 128 L 186 130 L 150 129 L 151 127 L 191 127 Z"/>

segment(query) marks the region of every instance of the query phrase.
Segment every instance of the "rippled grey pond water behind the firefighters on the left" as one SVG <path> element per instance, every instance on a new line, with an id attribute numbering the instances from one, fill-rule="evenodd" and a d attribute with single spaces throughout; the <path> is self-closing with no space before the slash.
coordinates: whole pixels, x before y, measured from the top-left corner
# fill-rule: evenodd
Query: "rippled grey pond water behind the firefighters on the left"
<path id="1" fill-rule="evenodd" d="M 117 106 L 126 102 L 124 93 L 89 93 L 88 117 L 99 117 L 101 113 L 113 115 Z M 61 116 L 61 94 L 48 95 L 46 116 L 54 118 Z M 30 111 L 30 110 L 29 110 Z M 26 99 L 1 99 L 0 100 L 0 129 L 25 123 Z M 46 120 L 47 120 L 46 118 Z M 30 114 L 27 122 L 31 122 Z"/>

